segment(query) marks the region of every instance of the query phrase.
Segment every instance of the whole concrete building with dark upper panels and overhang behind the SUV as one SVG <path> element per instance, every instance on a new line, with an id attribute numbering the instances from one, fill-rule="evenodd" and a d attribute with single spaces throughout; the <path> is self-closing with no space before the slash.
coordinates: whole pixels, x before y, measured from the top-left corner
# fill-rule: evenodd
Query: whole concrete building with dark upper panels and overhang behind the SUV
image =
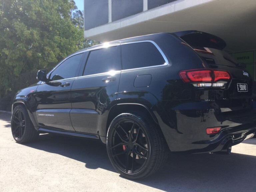
<path id="1" fill-rule="evenodd" d="M 84 13 L 84 37 L 101 42 L 183 30 L 217 35 L 256 80 L 256 0 L 84 0 Z"/>

